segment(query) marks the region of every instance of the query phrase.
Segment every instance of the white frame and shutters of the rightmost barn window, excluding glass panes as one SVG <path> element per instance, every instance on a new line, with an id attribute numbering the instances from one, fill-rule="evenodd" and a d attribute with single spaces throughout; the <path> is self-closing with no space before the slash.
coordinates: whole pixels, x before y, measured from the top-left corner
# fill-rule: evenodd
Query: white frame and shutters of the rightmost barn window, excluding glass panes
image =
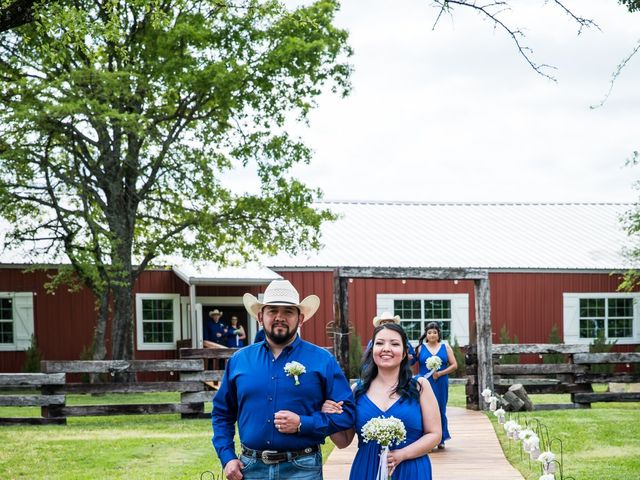
<path id="1" fill-rule="evenodd" d="M 563 340 L 567 344 L 589 345 L 593 338 L 580 338 L 580 299 L 589 298 L 632 298 L 633 299 L 633 336 L 631 337 L 605 337 L 606 340 L 615 341 L 616 345 L 633 345 L 640 343 L 640 293 L 563 293 Z"/>

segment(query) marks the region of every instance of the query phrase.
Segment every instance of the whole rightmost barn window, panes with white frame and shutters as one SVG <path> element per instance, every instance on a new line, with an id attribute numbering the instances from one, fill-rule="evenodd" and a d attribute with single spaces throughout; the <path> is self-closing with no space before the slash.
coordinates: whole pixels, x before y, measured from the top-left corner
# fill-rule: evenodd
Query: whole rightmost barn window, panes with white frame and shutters
<path id="1" fill-rule="evenodd" d="M 565 343 L 591 343 L 602 335 L 618 344 L 640 341 L 640 294 L 565 293 Z"/>

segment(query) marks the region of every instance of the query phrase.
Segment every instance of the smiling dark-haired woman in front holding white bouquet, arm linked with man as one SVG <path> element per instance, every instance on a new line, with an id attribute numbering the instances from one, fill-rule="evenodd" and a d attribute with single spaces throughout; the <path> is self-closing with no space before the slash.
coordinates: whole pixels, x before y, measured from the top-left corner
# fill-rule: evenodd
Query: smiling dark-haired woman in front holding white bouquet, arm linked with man
<path id="1" fill-rule="evenodd" d="M 351 466 L 351 480 L 375 480 L 381 446 L 364 442 L 362 427 L 372 418 L 395 417 L 404 423 L 406 440 L 392 446 L 387 467 L 393 480 L 431 480 L 427 455 L 440 439 L 438 403 L 427 382 L 415 379 L 408 364 L 408 340 L 402 327 L 388 323 L 373 331 L 373 346 L 367 352 L 360 381 L 354 385 L 355 429 L 331 435 L 338 448 L 349 446 L 357 431 L 358 453 Z M 325 413 L 341 411 L 339 403 L 327 400 Z M 386 477 L 385 477 L 386 478 Z"/>

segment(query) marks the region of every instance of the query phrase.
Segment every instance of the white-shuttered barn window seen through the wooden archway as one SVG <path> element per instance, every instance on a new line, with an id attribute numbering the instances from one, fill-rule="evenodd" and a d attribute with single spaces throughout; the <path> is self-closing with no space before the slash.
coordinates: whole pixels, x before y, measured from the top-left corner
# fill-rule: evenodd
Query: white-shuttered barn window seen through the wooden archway
<path id="1" fill-rule="evenodd" d="M 378 294 L 378 314 L 392 311 L 415 345 L 429 322 L 438 322 L 442 336 L 461 345 L 469 342 L 469 297 L 466 294 Z"/>

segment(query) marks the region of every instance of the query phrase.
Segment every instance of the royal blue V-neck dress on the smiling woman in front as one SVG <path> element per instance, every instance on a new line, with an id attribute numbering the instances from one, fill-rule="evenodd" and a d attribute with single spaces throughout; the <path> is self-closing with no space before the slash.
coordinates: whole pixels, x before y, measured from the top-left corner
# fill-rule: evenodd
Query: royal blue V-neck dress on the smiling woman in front
<path id="1" fill-rule="evenodd" d="M 422 413 L 417 399 L 399 398 L 386 412 L 380 410 L 366 394 L 356 400 L 356 432 L 358 433 L 358 453 L 351 466 L 350 480 L 374 480 L 378 472 L 382 448 L 377 442 L 362 441 L 362 427 L 374 417 L 395 417 L 402 420 L 407 430 L 407 439 L 390 450 L 403 448 L 415 442 L 424 434 Z M 431 462 L 428 455 L 405 460 L 393 472 L 393 480 L 431 480 Z"/>

